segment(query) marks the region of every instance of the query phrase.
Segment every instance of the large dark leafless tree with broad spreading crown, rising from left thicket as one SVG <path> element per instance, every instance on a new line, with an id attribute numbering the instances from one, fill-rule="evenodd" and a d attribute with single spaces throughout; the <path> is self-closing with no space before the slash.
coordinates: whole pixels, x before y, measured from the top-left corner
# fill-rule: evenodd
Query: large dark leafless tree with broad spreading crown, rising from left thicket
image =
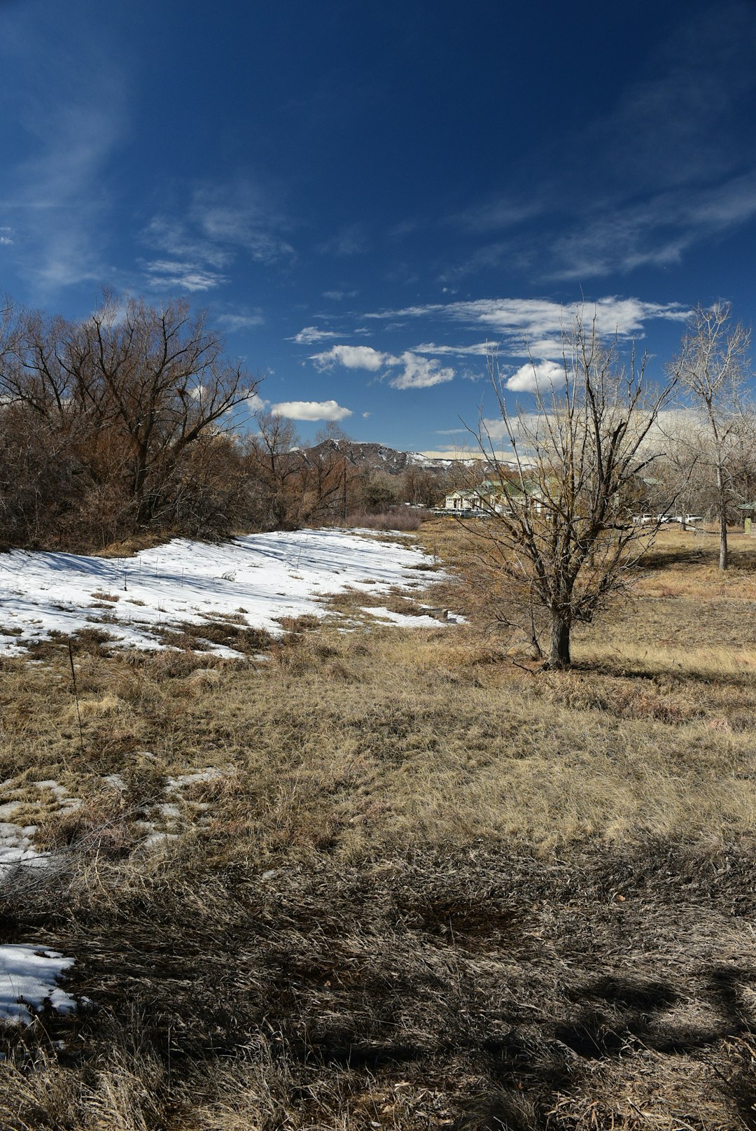
<path id="1" fill-rule="evenodd" d="M 111 295 L 78 323 L 25 314 L 0 365 L 2 399 L 68 437 L 93 483 L 118 483 L 134 527 L 173 506 L 184 452 L 233 429 L 258 385 L 187 303 Z"/>

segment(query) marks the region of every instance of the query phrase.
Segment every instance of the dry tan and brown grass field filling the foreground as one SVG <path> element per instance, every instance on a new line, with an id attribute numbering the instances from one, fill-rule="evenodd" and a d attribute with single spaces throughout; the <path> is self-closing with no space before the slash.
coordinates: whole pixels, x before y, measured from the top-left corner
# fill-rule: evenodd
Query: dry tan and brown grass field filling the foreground
<path id="1" fill-rule="evenodd" d="M 663 532 L 634 589 L 567 673 L 454 577 L 375 604 L 466 624 L 346 594 L 254 663 L 80 640 L 78 706 L 60 646 L 6 661 L 53 856 L 0 941 L 91 1004 L 5 1035 L 0 1126 L 756 1128 L 756 539 Z"/>

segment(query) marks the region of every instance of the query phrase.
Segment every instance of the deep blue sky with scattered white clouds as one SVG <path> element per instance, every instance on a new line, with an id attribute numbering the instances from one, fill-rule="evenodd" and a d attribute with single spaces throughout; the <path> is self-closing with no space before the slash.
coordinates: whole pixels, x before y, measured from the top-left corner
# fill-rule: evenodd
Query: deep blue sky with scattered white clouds
<path id="1" fill-rule="evenodd" d="M 187 297 L 306 440 L 454 450 L 582 300 L 652 374 L 753 320 L 751 0 L 0 0 L 0 291 Z"/>

